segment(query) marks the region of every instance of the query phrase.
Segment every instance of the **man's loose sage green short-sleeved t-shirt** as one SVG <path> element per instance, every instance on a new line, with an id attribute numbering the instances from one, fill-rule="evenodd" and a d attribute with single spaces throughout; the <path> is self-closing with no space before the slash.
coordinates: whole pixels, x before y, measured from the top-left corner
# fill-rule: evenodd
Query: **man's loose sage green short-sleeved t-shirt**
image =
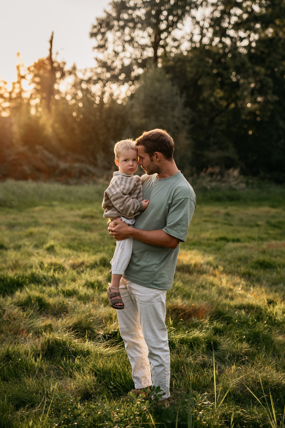
<path id="1" fill-rule="evenodd" d="M 196 208 L 193 188 L 179 171 L 167 178 L 156 174 L 141 177 L 143 199 L 150 203 L 136 217 L 134 227 L 143 230 L 162 229 L 168 235 L 185 241 L 188 226 Z M 148 288 L 167 290 L 172 287 L 178 247 L 155 247 L 133 240 L 132 257 L 124 277 Z"/>

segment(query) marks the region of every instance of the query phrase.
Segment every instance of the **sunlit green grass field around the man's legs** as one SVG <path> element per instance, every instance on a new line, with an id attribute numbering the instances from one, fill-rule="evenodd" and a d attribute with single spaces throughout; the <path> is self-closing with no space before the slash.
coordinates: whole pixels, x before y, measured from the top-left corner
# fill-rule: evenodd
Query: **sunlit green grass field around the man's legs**
<path id="1" fill-rule="evenodd" d="M 284 427 L 284 189 L 195 189 L 163 409 L 128 395 L 104 187 L 0 184 L 0 427 Z"/>

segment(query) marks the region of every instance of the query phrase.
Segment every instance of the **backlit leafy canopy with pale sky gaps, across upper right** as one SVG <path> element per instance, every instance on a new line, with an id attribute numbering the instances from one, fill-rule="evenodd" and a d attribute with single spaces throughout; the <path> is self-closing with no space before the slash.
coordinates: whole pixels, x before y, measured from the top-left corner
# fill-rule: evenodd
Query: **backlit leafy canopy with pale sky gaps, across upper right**
<path id="1" fill-rule="evenodd" d="M 113 0 L 90 33 L 95 81 L 133 82 L 149 58 L 157 65 L 201 44 L 245 54 L 258 39 L 284 40 L 284 16 L 284 0 Z"/>

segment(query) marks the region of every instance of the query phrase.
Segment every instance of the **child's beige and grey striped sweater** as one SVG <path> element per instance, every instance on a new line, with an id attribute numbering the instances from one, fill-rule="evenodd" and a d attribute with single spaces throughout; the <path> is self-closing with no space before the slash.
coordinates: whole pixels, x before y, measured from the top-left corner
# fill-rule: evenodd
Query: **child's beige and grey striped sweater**
<path id="1" fill-rule="evenodd" d="M 138 175 L 115 171 L 104 193 L 104 217 L 133 218 L 142 211 L 142 200 L 141 178 Z"/>

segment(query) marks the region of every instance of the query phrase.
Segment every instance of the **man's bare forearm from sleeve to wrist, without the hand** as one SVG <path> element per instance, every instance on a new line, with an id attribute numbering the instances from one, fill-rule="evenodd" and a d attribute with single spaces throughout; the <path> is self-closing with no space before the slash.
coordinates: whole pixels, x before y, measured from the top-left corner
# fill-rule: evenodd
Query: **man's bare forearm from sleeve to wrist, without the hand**
<path id="1" fill-rule="evenodd" d="M 144 244 L 154 245 L 156 247 L 176 248 L 179 244 L 179 239 L 168 235 L 162 229 L 160 230 L 141 230 L 131 228 L 129 231 L 131 238 L 141 241 Z"/>

